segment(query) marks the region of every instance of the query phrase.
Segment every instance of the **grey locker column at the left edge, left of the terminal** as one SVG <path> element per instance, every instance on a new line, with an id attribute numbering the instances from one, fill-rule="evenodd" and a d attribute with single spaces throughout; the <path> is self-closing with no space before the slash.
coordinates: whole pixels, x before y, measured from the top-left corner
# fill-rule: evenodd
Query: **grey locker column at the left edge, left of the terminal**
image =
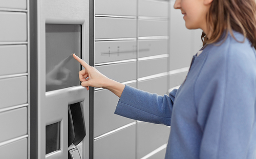
<path id="1" fill-rule="evenodd" d="M 29 158 L 28 3 L 27 0 L 4 0 L 0 4 L 0 158 Z"/>

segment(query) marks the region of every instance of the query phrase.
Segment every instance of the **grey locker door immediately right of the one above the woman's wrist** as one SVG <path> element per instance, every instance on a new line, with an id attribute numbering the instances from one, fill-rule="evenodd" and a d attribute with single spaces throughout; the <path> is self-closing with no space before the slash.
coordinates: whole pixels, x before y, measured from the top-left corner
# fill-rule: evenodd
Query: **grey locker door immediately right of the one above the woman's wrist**
<path id="1" fill-rule="evenodd" d="M 167 72 L 167 58 L 143 60 L 138 62 L 139 78 Z"/>

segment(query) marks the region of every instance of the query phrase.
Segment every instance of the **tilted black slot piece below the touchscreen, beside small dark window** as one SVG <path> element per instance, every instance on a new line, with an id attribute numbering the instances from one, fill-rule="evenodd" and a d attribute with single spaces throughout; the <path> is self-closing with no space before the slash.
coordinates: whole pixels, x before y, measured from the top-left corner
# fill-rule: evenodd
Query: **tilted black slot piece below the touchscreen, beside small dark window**
<path id="1" fill-rule="evenodd" d="M 77 145 L 86 136 L 86 125 L 84 124 L 83 110 L 80 103 L 70 104 L 69 109 L 75 132 L 73 144 Z"/>

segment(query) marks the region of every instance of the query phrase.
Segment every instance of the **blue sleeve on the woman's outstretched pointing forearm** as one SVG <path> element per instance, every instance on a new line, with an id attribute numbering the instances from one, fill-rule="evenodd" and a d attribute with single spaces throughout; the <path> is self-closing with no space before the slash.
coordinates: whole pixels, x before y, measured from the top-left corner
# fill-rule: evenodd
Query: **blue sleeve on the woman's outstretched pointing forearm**
<path id="1" fill-rule="evenodd" d="M 170 126 L 176 92 L 177 89 L 174 89 L 169 96 L 158 96 L 125 85 L 115 113 L 135 120 Z"/>

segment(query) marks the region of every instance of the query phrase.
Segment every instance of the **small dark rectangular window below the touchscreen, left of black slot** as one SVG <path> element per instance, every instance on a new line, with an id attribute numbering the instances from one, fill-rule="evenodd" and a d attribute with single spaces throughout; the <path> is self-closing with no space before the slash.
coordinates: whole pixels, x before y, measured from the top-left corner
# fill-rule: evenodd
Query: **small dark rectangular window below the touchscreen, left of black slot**
<path id="1" fill-rule="evenodd" d="M 60 122 L 46 126 L 46 154 L 60 149 Z"/>

